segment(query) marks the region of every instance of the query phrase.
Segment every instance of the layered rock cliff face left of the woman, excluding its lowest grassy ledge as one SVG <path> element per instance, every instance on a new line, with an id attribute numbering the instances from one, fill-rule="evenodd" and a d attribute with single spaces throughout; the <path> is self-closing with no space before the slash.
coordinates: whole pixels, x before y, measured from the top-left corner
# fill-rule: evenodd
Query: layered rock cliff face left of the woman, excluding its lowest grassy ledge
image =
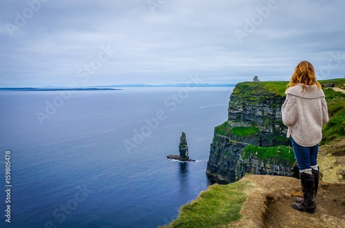
<path id="1" fill-rule="evenodd" d="M 223 183 L 239 180 L 246 173 L 291 176 L 293 165 L 284 158 L 244 156 L 247 145 L 290 145 L 280 108 L 286 82 L 238 83 L 230 96 L 228 121 L 215 127 L 206 174 Z M 278 154 L 279 155 L 279 154 Z"/>

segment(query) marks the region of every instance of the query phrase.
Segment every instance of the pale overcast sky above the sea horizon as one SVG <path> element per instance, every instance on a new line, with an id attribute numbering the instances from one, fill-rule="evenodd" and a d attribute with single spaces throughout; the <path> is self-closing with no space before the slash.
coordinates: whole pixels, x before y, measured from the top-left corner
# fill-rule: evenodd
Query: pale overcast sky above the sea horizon
<path id="1" fill-rule="evenodd" d="M 0 2 L 0 87 L 344 78 L 345 1 Z"/>

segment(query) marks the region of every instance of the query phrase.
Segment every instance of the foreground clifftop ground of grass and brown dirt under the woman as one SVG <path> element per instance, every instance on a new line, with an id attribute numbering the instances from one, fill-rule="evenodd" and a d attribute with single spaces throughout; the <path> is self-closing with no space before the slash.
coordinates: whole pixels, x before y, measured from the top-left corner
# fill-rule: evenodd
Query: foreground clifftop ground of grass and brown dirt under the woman
<path id="1" fill-rule="evenodd" d="M 345 227 L 345 183 L 320 181 L 315 214 L 293 209 L 296 197 L 302 197 L 296 178 L 246 175 L 211 185 L 167 227 Z"/>

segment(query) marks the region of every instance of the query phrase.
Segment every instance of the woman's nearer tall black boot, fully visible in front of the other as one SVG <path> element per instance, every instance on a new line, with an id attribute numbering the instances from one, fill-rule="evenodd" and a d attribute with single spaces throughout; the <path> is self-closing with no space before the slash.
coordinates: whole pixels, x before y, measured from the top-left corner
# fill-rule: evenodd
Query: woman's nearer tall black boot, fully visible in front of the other
<path id="1" fill-rule="evenodd" d="M 302 173 L 301 183 L 302 190 L 304 190 L 303 201 L 302 203 L 292 203 L 292 206 L 299 211 L 306 211 L 313 214 L 316 209 L 314 175 Z"/>

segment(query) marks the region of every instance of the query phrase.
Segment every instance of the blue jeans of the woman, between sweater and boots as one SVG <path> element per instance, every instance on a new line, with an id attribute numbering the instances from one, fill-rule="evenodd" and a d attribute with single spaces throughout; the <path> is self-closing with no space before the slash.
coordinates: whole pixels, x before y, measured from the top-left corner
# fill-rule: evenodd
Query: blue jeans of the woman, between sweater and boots
<path id="1" fill-rule="evenodd" d="M 317 152 L 319 152 L 319 144 L 313 147 L 302 147 L 298 145 L 291 137 L 293 144 L 293 153 L 297 161 L 299 170 L 310 169 L 311 166 L 317 165 Z"/>

